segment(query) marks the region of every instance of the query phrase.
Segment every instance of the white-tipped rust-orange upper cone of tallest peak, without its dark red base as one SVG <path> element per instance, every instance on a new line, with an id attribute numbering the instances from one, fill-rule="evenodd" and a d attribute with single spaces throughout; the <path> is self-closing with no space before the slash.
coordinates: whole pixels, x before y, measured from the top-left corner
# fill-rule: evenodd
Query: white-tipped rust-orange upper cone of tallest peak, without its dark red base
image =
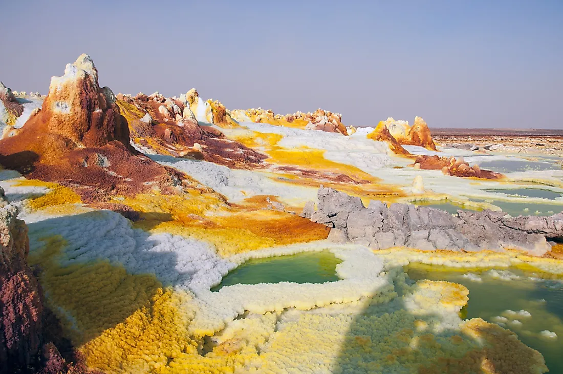
<path id="1" fill-rule="evenodd" d="M 119 141 L 127 148 L 129 130 L 115 96 L 100 88 L 98 72 L 88 55 L 66 65 L 62 77 L 51 78 L 42 109 L 14 136 L 2 140 L 0 153 L 34 152 L 39 161 L 57 161 L 72 149 Z"/>

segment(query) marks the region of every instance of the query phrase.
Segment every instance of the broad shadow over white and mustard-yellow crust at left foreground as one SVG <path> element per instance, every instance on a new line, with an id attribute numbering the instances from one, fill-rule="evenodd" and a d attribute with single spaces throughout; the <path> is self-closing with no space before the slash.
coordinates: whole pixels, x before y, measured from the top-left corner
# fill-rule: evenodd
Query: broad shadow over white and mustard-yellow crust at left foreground
<path id="1" fill-rule="evenodd" d="M 197 271 L 178 271 L 178 255 L 172 248 L 132 229 L 122 216 L 109 220 L 111 227 L 96 226 L 96 219 L 104 219 L 101 214 L 119 216 L 94 211 L 28 225 L 33 238 L 30 265 L 48 307 L 56 311 L 74 346 L 95 339 L 137 310 L 151 315 L 163 287 L 184 284 Z M 158 221 L 167 219 L 155 214 Z M 115 220 L 118 224 L 111 223 Z M 97 229 L 99 234 L 92 232 Z M 58 232 L 68 239 L 54 234 Z"/>

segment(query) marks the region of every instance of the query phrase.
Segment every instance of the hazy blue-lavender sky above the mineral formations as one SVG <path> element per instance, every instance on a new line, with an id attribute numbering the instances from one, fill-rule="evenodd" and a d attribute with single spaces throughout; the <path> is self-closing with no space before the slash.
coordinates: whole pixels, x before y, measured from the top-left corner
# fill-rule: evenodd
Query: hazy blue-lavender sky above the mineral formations
<path id="1" fill-rule="evenodd" d="M 0 81 L 89 54 L 115 93 L 323 108 L 346 125 L 563 128 L 563 1 L 0 0 Z"/>

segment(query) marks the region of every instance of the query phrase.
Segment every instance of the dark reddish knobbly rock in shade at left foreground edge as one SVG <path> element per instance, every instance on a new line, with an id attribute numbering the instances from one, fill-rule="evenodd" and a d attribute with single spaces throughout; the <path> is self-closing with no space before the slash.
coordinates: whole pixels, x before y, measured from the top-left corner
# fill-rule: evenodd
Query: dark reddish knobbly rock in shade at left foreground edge
<path id="1" fill-rule="evenodd" d="M 61 335 L 59 322 L 43 307 L 41 287 L 27 262 L 28 228 L 3 194 L 0 188 L 0 374 L 85 373 L 83 362 L 65 360 L 48 341 L 64 341 L 52 334 Z M 61 344 L 76 359 L 66 345 Z"/>

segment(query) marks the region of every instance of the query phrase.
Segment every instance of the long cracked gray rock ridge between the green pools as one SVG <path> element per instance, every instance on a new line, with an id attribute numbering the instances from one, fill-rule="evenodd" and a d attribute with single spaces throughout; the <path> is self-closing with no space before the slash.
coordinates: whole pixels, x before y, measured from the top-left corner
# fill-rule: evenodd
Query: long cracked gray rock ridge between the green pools
<path id="1" fill-rule="evenodd" d="M 420 250 L 501 251 L 514 248 L 540 256 L 551 250 L 547 238 L 563 237 L 563 214 L 551 217 L 511 217 L 502 212 L 463 212 L 457 216 L 412 204 L 387 205 L 321 187 L 318 208 L 308 203 L 302 215 L 336 229 L 330 235 L 341 242 L 377 249 L 411 247 Z"/>

